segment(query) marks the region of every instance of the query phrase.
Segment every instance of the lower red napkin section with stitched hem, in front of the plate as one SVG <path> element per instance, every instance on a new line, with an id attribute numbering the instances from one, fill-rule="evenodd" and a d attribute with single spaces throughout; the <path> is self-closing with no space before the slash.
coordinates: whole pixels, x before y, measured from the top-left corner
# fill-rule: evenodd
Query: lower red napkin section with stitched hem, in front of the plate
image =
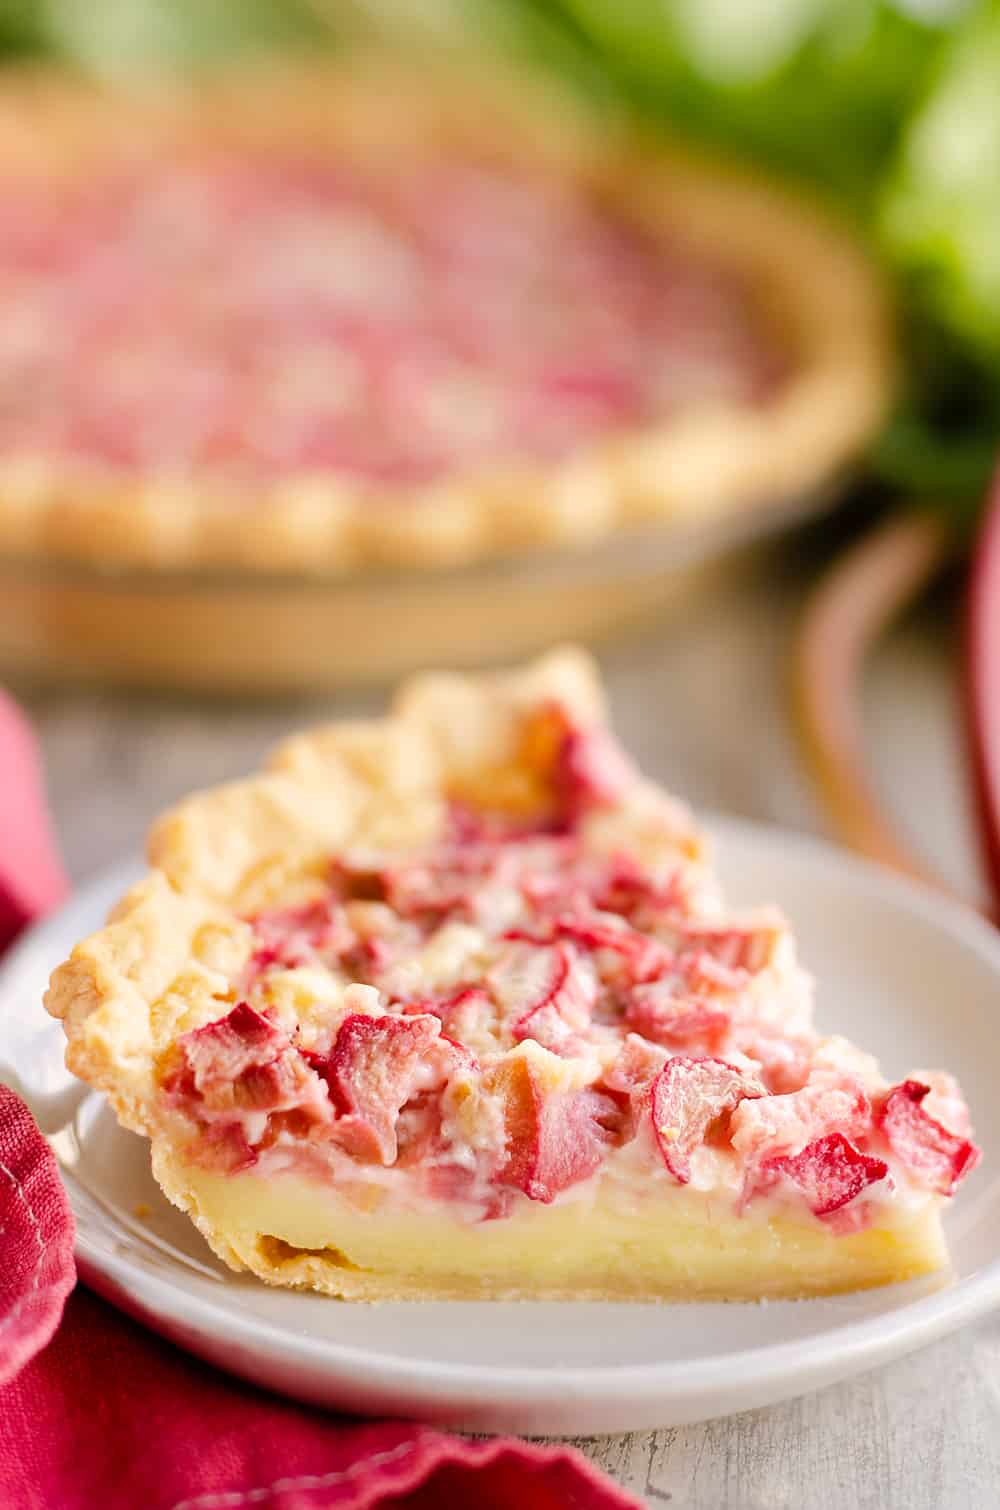
<path id="1" fill-rule="evenodd" d="M 230 1379 L 86 1290 L 0 1391 L 5 1510 L 624 1510 L 571 1448 L 355 1422 Z"/>

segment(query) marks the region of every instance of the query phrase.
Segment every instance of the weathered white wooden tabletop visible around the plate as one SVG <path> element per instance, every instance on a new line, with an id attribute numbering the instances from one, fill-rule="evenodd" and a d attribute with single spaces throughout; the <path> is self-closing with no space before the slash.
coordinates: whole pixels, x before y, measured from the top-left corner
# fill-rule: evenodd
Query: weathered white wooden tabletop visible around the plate
<path id="1" fill-rule="evenodd" d="M 603 655 L 615 716 L 647 770 L 692 802 L 822 829 L 784 714 L 795 551 L 740 568 L 683 622 Z M 876 770 L 929 856 L 974 886 L 947 615 L 897 633 L 873 670 Z M 249 770 L 285 729 L 378 695 L 281 707 L 15 689 L 42 734 L 63 850 L 82 880 L 136 847 L 196 785 Z M 784 1406 L 579 1444 L 651 1507 L 997 1510 L 1000 1318 Z"/>

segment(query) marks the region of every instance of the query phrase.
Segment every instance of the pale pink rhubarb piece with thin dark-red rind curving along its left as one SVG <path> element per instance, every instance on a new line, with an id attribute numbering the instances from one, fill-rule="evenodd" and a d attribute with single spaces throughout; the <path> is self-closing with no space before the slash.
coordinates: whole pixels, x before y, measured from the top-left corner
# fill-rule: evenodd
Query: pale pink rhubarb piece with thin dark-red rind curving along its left
<path id="1" fill-rule="evenodd" d="M 663 1163 L 674 1179 L 690 1179 L 690 1155 L 705 1142 L 715 1122 L 748 1098 L 766 1096 L 764 1087 L 724 1059 L 668 1059 L 653 1081 L 653 1131 Z"/>

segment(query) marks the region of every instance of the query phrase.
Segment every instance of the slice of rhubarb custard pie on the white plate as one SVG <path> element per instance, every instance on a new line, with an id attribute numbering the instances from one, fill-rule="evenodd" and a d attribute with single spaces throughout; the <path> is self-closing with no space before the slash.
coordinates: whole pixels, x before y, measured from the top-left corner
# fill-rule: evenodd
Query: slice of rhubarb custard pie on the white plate
<path id="1" fill-rule="evenodd" d="M 192 797 L 56 969 L 68 1063 L 233 1268 L 349 1299 L 760 1297 L 946 1262 L 953 1080 L 811 1024 L 589 661 L 427 675 Z"/>

